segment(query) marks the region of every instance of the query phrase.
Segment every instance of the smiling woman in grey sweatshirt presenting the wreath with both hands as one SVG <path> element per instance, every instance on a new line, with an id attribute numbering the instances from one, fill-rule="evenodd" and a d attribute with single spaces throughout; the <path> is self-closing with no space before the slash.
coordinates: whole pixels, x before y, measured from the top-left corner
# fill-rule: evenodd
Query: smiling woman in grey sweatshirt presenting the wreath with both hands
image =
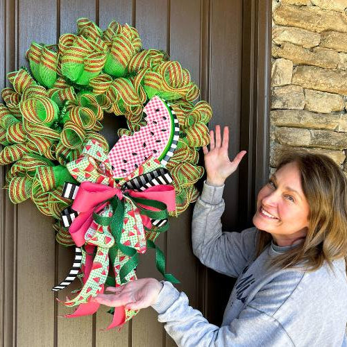
<path id="1" fill-rule="evenodd" d="M 347 346 L 347 183 L 324 155 L 298 153 L 279 165 L 257 196 L 255 228 L 222 232 L 224 181 L 246 153 L 228 159 L 210 132 L 207 180 L 194 208 L 194 254 L 237 277 L 221 327 L 189 307 L 169 282 L 144 278 L 95 301 L 132 309 L 152 305 L 178 346 Z"/>

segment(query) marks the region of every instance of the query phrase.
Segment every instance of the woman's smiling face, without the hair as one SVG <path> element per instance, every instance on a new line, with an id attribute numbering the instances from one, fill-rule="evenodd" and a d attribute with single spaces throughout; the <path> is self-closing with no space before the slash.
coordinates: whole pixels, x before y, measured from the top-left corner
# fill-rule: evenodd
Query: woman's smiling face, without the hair
<path id="1" fill-rule="evenodd" d="M 309 213 L 298 165 L 291 162 L 276 171 L 260 190 L 253 224 L 269 232 L 278 246 L 290 246 L 305 237 Z"/>

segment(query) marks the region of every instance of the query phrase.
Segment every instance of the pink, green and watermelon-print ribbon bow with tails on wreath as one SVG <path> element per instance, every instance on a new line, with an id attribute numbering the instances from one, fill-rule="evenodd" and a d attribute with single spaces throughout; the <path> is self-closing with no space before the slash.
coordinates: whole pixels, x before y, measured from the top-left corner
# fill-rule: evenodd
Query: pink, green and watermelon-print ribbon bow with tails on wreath
<path id="1" fill-rule="evenodd" d="M 147 245 L 156 249 L 156 264 L 164 278 L 178 282 L 174 276 L 164 272 L 164 256 L 155 246 L 153 242 L 155 238 L 146 240 L 146 230 L 153 232 L 151 220 L 165 219 L 167 209 L 175 210 L 174 187 L 158 185 L 141 192 L 127 188 L 127 183 L 132 178 L 139 173 L 149 172 L 158 165 L 158 160 L 148 160 L 128 178 L 115 183 L 107 155 L 96 141 L 88 142 L 83 155 L 68 164 L 72 176 L 82 182 L 72 204 L 72 209 L 79 212 L 78 217 L 71 223 L 69 232 L 76 246 L 81 247 L 86 244 L 97 248 L 92 271 L 83 288 L 76 298 L 65 302 L 65 305 L 81 307 L 87 305 L 92 296 L 101 293 L 110 262 L 116 286 L 128 280 L 135 280 L 137 254 L 146 252 Z M 155 228 L 155 232 L 159 233 L 167 228 L 168 225 Z M 94 304 L 90 305 L 96 308 Z M 88 305 L 82 306 L 81 309 L 80 307 L 73 316 L 83 314 L 85 312 L 83 307 L 87 308 Z M 115 312 L 119 315 L 119 310 Z M 121 316 L 128 320 L 135 313 L 130 310 Z M 118 320 L 119 316 L 112 324 L 115 324 L 115 321 L 119 324 Z"/>

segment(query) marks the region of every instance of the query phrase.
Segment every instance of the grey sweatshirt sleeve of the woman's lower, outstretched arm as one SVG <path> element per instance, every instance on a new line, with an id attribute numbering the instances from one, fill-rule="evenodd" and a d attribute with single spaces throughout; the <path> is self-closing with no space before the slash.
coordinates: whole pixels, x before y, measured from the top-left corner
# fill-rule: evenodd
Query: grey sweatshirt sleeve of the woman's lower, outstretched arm
<path id="1" fill-rule="evenodd" d="M 294 346 L 282 325 L 263 312 L 246 307 L 238 319 L 219 328 L 210 324 L 201 312 L 188 304 L 188 298 L 164 282 L 153 308 L 159 313 L 158 320 L 180 347 L 256 347 Z"/>

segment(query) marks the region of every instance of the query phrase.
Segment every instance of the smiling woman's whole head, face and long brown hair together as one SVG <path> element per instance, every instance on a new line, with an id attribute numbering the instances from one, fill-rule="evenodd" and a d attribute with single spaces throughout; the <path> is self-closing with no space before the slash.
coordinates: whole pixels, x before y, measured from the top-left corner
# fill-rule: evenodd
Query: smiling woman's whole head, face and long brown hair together
<path id="1" fill-rule="evenodd" d="M 287 183 L 291 188 L 286 187 Z M 271 234 L 260 233 L 257 254 L 272 236 L 278 246 L 299 245 L 278 257 L 278 266 L 302 262 L 307 271 L 314 271 L 324 262 L 332 266 L 333 260 L 346 257 L 346 187 L 346 176 L 325 155 L 287 153 L 257 198 L 253 223 Z M 262 209 L 275 211 L 278 223 L 265 226 Z"/>

